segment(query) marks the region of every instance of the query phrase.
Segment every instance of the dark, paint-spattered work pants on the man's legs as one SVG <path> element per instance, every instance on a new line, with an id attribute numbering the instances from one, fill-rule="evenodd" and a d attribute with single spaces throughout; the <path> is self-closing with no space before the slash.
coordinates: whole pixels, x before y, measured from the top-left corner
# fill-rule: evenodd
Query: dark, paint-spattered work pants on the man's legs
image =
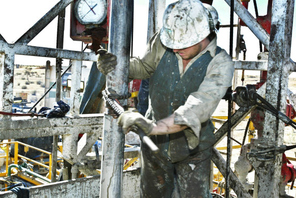
<path id="1" fill-rule="evenodd" d="M 141 197 L 169 198 L 173 191 L 174 194 L 177 191 L 179 197 L 212 197 L 209 191 L 211 147 L 176 163 L 152 154 L 143 144 L 141 151 Z"/>

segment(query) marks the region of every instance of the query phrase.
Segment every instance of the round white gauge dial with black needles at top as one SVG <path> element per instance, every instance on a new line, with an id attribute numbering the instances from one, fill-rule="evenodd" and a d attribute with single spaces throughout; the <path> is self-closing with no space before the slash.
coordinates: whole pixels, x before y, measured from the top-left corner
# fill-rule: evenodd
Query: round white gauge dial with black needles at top
<path id="1" fill-rule="evenodd" d="M 77 0 L 74 14 L 83 25 L 100 24 L 107 16 L 106 0 Z"/>

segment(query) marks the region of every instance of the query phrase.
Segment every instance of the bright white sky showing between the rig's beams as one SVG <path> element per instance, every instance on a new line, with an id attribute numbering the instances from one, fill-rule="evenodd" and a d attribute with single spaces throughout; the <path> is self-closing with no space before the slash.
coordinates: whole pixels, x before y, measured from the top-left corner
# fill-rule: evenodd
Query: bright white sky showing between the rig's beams
<path id="1" fill-rule="evenodd" d="M 174 2 L 174 0 L 166 0 L 167 5 Z M 46 14 L 58 0 L 10 0 L 1 1 L 0 3 L 0 34 L 9 43 L 15 42 L 21 35 L 23 35 L 32 25 L 34 25 L 44 14 Z M 257 1 L 259 15 L 266 15 L 268 0 Z M 148 5 L 149 0 L 135 0 L 135 12 L 134 12 L 134 56 L 140 56 L 146 47 L 147 39 L 147 21 L 148 21 Z M 219 20 L 221 24 L 229 24 L 229 6 L 222 0 L 214 0 L 213 6 L 216 8 L 219 14 Z M 249 11 L 255 16 L 253 1 L 249 3 Z M 235 24 L 238 21 L 238 17 L 235 14 Z M 294 24 L 295 26 L 295 24 Z M 34 38 L 29 45 L 51 47 L 56 46 L 56 29 L 57 19 L 55 18 L 45 29 Z M 296 33 L 296 29 L 294 31 Z M 291 58 L 296 60 L 294 55 L 294 43 L 296 39 L 295 33 L 292 34 L 292 48 Z M 236 42 L 237 29 L 234 29 L 234 49 Z M 259 53 L 259 44 L 256 37 L 251 33 L 247 27 L 242 27 L 241 34 L 244 35 L 246 42 L 247 53 L 246 59 L 249 61 L 255 61 L 257 54 Z M 220 29 L 218 32 L 217 44 L 229 51 L 229 28 Z M 85 46 L 85 45 L 83 45 Z M 73 41 L 70 38 L 70 6 L 67 7 L 65 13 L 65 32 L 64 32 L 64 49 L 81 51 L 81 42 Z M 233 53 L 235 55 L 235 52 Z M 242 54 L 240 54 L 242 58 Z M 46 61 L 50 60 L 52 64 L 55 63 L 55 59 L 41 58 L 25 55 L 16 55 L 15 64 L 20 65 L 45 65 Z M 67 66 L 68 60 L 64 60 L 63 65 Z M 90 62 L 84 62 L 84 65 L 91 65 Z"/>

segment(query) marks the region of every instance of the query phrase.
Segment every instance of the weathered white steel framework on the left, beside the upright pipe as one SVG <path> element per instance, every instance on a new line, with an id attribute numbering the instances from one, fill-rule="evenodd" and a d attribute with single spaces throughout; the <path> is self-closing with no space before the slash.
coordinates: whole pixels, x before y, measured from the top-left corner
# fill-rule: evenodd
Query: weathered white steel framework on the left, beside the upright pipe
<path id="1" fill-rule="evenodd" d="M 44 56 L 48 58 L 57 59 L 72 59 L 74 60 L 75 73 L 72 73 L 72 98 L 71 98 L 71 116 L 62 119 L 15 119 L 11 117 L 0 116 L 0 125 L 3 127 L 0 131 L 2 139 L 22 138 L 22 137 L 36 137 L 67 134 L 66 143 L 64 144 L 64 158 L 76 162 L 86 158 L 86 150 L 91 148 L 91 144 L 87 144 L 77 155 L 74 152 L 77 148 L 76 137 L 79 133 L 90 133 L 89 139 L 94 141 L 96 137 L 101 135 L 102 131 L 102 115 L 84 115 L 79 117 L 79 94 L 80 94 L 80 78 L 81 78 L 81 61 L 96 61 L 94 53 L 87 53 L 81 51 L 72 51 L 64 49 L 55 49 L 47 47 L 36 47 L 27 45 L 34 39 L 46 25 L 48 25 L 59 13 L 72 3 L 73 0 L 59 1 L 49 12 L 47 12 L 35 25 L 33 25 L 25 34 L 23 34 L 15 43 L 10 44 L 0 35 L 0 109 L 2 111 L 11 112 L 13 102 L 13 75 L 14 75 L 14 55 L 33 55 Z M 61 43 L 62 41 L 59 41 Z M 61 48 L 59 44 L 57 47 Z M 77 77 L 76 77 L 77 76 Z M 77 81 L 77 82 L 76 82 Z M 77 92 L 79 90 L 79 92 Z M 77 110 L 78 109 L 78 110 Z M 100 116 L 97 118 L 94 116 Z M 63 121 L 62 121 L 63 120 Z M 75 120 L 80 120 L 77 123 Z M 101 121 L 102 122 L 101 122 Z M 30 124 L 28 124 L 30 123 Z M 62 124 L 61 124 L 62 123 Z M 76 124 L 74 124 L 76 123 Z M 84 124 L 82 124 L 84 123 Z M 91 124 L 92 123 L 92 124 Z M 7 129 L 5 131 L 5 129 Z M 8 133 L 10 131 L 10 133 Z M 78 136 L 77 136 L 78 137 Z M 90 141 L 90 142 L 92 142 Z M 77 151 L 77 150 L 76 150 Z"/>

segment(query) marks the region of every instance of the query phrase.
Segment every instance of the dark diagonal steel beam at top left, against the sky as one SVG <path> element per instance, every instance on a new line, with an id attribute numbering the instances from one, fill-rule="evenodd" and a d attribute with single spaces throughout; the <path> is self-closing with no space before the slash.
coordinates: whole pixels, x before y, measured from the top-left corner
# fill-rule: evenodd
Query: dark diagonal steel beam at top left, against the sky
<path id="1" fill-rule="evenodd" d="M 37 21 L 16 43 L 28 44 L 46 27 L 63 9 L 74 0 L 60 0 L 50 11 L 48 11 L 39 21 Z"/>

